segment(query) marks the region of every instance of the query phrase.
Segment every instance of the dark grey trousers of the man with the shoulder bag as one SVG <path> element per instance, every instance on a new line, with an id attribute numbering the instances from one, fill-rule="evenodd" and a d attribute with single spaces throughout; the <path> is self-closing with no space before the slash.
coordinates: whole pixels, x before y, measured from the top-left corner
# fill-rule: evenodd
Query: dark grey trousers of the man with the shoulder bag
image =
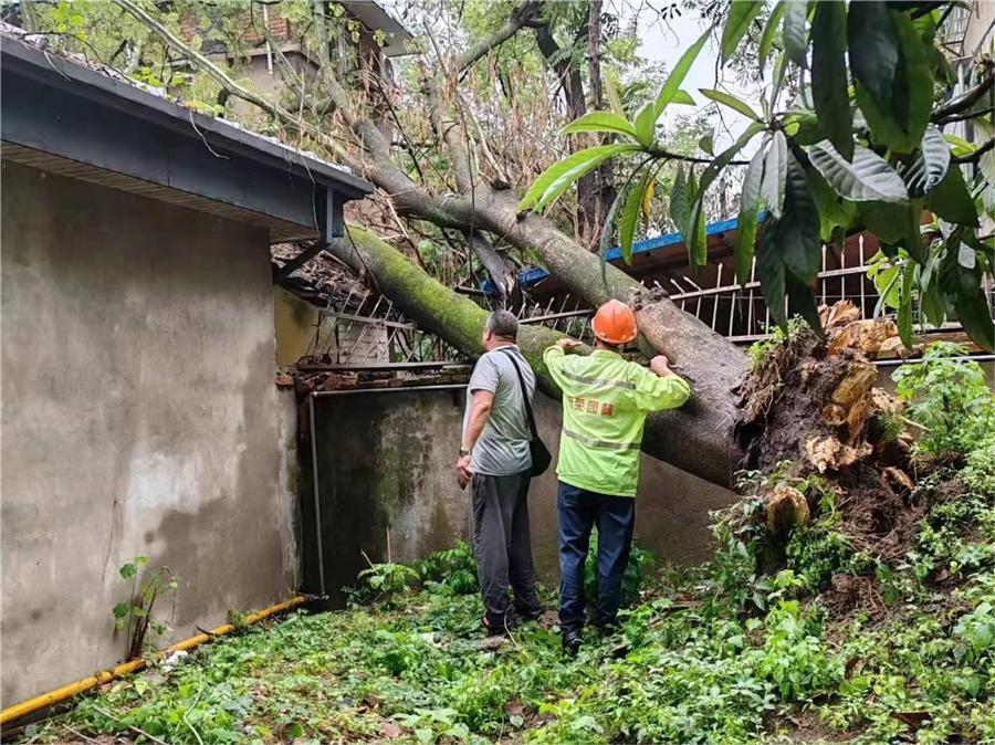
<path id="1" fill-rule="evenodd" d="M 535 617 L 541 610 L 528 533 L 531 479 L 528 471 L 511 476 L 474 473 L 471 482 L 473 556 L 488 622 L 495 630 L 511 627 L 514 611 Z"/>

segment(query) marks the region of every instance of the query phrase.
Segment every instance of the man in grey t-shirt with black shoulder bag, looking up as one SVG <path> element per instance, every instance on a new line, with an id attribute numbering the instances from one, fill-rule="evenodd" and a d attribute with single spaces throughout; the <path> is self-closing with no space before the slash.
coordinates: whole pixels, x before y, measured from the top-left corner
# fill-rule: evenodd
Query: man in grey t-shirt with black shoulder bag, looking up
<path id="1" fill-rule="evenodd" d="M 515 613 L 535 619 L 541 612 L 528 531 L 532 432 L 519 381 L 521 374 L 531 405 L 535 375 L 515 346 L 517 333 L 519 322 L 507 311 L 488 317 L 485 351 L 467 388 L 457 461 L 460 487 L 471 484 L 473 555 L 486 608 L 483 622 L 495 634 L 511 628 Z"/>

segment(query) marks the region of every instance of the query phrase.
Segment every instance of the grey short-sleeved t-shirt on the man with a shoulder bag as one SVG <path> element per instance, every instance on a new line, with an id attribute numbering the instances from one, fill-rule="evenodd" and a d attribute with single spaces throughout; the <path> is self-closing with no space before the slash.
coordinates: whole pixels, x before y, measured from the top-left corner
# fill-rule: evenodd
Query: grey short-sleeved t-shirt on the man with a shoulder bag
<path id="1" fill-rule="evenodd" d="M 507 350 L 507 351 L 505 351 Z M 470 385 L 467 386 L 467 411 L 463 413 L 463 431 L 470 419 L 470 405 L 474 390 L 489 390 L 494 394 L 491 416 L 484 424 L 473 453 L 470 457 L 470 470 L 492 476 L 507 476 L 532 468 L 532 455 L 528 453 L 528 441 L 532 432 L 528 417 L 522 400 L 522 387 L 515 374 L 514 363 L 509 357 L 514 355 L 530 402 L 535 395 L 535 374 L 516 346 L 501 347 L 485 353 L 473 367 Z"/>

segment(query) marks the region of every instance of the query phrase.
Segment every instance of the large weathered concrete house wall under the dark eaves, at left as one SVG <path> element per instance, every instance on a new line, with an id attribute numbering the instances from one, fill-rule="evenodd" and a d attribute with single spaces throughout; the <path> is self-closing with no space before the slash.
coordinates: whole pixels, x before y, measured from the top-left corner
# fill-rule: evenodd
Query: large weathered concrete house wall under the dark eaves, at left
<path id="1" fill-rule="evenodd" d="M 184 578 L 184 638 L 286 598 L 297 552 L 265 231 L 9 162 L 2 213 L 8 705 L 122 658 L 132 557 Z"/>

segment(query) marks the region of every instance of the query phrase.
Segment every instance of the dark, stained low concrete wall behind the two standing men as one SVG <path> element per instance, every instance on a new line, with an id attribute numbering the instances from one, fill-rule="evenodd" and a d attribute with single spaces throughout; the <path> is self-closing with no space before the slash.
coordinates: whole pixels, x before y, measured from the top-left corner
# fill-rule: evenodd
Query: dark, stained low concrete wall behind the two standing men
<path id="1" fill-rule="evenodd" d="M 410 560 L 467 536 L 468 493 L 455 483 L 462 390 L 362 392 L 315 399 L 326 589 L 337 600 L 365 568 L 387 557 Z M 536 419 L 554 452 L 559 402 L 541 396 Z M 302 466 L 310 481 L 310 453 Z M 317 589 L 312 491 L 303 486 L 305 587 Z M 709 511 L 732 500 L 719 489 L 643 457 L 637 541 L 659 558 L 698 563 L 710 554 Z M 544 583 L 557 579 L 556 475 L 533 482 L 532 543 Z"/>

